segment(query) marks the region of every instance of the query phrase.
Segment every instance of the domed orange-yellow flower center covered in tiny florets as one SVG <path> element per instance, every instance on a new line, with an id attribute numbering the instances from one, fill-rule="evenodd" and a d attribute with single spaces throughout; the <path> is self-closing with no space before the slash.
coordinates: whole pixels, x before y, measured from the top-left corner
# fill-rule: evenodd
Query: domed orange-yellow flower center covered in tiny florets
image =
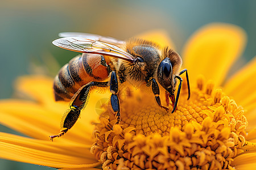
<path id="1" fill-rule="evenodd" d="M 203 78 L 187 100 L 184 84 L 174 113 L 159 108 L 150 94 L 120 95 L 121 124 L 106 111 L 93 133 L 91 152 L 103 169 L 232 168 L 245 145 L 243 109 Z"/>

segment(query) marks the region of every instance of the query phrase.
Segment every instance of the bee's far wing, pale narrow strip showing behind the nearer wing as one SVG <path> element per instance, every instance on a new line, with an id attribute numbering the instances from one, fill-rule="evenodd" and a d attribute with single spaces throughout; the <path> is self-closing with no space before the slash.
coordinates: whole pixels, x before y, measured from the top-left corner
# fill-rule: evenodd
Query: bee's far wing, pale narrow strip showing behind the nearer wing
<path id="1" fill-rule="evenodd" d="M 121 45 L 125 44 L 125 41 L 121 41 L 121 40 L 115 39 L 113 37 L 104 37 L 104 36 L 96 35 L 93 33 L 61 32 L 61 33 L 59 33 L 59 37 L 83 37 L 85 39 L 106 42 L 108 44 L 117 45 L 117 46 L 121 46 Z"/>

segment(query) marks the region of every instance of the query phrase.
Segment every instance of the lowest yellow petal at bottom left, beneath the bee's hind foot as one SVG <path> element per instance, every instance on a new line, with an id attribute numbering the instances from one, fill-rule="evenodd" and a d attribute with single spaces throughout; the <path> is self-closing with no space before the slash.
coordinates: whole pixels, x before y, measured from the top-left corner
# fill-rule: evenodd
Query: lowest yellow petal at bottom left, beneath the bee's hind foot
<path id="1" fill-rule="evenodd" d="M 40 141 L 0 133 L 1 158 L 55 168 L 95 167 L 90 146 Z"/>

